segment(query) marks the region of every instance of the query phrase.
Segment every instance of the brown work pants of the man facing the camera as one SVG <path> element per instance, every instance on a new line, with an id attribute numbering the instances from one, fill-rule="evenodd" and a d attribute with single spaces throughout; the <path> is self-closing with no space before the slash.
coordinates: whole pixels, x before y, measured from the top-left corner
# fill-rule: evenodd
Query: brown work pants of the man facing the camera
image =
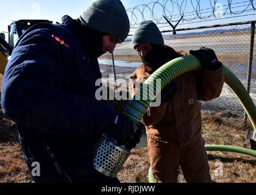
<path id="1" fill-rule="evenodd" d="M 211 182 L 208 156 L 200 136 L 186 146 L 148 135 L 148 150 L 157 183 L 177 183 L 179 166 L 188 183 Z"/>

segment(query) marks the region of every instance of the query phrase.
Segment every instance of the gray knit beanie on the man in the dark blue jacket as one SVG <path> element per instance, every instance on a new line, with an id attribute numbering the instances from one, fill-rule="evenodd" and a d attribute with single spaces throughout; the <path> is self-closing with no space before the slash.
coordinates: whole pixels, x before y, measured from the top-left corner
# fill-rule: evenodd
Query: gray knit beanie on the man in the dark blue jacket
<path id="1" fill-rule="evenodd" d="M 129 34 L 130 22 L 126 9 L 120 0 L 98 0 L 80 15 L 82 23 L 94 30 L 114 35 L 125 40 Z"/>

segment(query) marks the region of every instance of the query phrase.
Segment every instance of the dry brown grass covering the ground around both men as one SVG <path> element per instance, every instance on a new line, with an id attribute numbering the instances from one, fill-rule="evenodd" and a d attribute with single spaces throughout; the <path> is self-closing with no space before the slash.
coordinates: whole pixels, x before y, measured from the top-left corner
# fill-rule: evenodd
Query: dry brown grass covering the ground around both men
<path id="1" fill-rule="evenodd" d="M 112 102 L 112 106 L 121 112 L 126 102 Z M 1 112 L 0 112 L 1 113 Z M 227 144 L 249 147 L 246 140 L 247 130 L 251 125 L 243 126 L 243 119 L 230 113 L 202 113 L 203 137 L 206 144 Z M 229 117 L 227 117 L 229 116 Z M 230 118 L 231 116 L 231 118 Z M 18 144 L 18 135 L 14 124 L 0 115 L 0 183 L 32 182 L 24 164 Z M 242 154 L 230 152 L 208 152 L 210 173 L 214 182 L 255 183 L 256 159 Z M 215 176 L 215 163 L 223 163 L 223 176 Z M 148 183 L 149 158 L 146 148 L 133 150 L 129 159 L 118 174 L 123 183 Z M 185 182 L 182 171 L 179 182 Z"/>

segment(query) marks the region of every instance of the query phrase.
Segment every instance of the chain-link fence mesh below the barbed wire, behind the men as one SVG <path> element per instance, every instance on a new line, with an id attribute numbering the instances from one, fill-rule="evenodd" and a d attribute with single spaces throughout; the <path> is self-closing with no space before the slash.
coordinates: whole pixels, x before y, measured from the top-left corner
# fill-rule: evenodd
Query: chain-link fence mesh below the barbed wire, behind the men
<path id="1" fill-rule="evenodd" d="M 255 21 L 247 23 L 225 24 L 218 26 L 178 29 L 176 35 L 171 31 L 162 32 L 165 44 L 176 51 L 190 51 L 200 49 L 201 46 L 213 49 L 219 61 L 226 65 L 250 91 L 256 104 L 256 52 L 253 32 Z M 252 36 L 253 35 L 253 36 Z M 116 46 L 113 54 L 105 54 L 99 59 L 102 77 L 110 88 L 116 79 L 126 79 L 140 65 L 140 57 L 132 46 L 132 37 Z M 254 43 L 254 44 L 252 44 Z M 251 46 L 251 48 L 250 48 Z M 254 55 L 252 52 L 254 51 Z M 250 55 L 252 58 L 251 64 Z M 115 64 L 115 69 L 113 68 Z M 128 85 L 127 85 L 128 87 Z M 224 112 L 227 116 L 243 117 L 244 109 L 232 90 L 225 84 L 221 96 L 213 101 L 200 102 L 202 110 L 210 112 Z"/>

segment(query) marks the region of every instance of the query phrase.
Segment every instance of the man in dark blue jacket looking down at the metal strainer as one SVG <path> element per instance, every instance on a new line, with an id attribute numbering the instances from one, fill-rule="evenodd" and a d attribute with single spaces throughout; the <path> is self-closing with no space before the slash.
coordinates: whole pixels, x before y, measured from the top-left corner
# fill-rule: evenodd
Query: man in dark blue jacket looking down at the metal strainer
<path id="1" fill-rule="evenodd" d="M 5 70 L 2 109 L 17 124 L 35 182 L 118 183 L 93 169 L 86 151 L 101 133 L 119 145 L 141 137 L 134 122 L 95 98 L 97 58 L 124 41 L 129 18 L 121 1 L 98 0 L 79 19 L 62 21 L 37 24 L 20 38 Z"/>

